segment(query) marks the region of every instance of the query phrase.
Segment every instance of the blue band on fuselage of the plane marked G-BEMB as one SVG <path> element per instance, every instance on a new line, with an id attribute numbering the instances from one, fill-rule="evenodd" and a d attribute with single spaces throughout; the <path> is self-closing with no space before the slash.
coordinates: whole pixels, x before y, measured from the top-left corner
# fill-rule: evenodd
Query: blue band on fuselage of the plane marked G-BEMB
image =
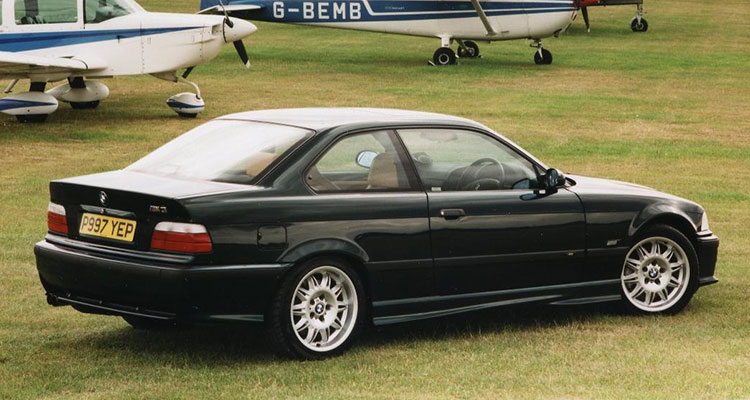
<path id="1" fill-rule="evenodd" d="M 471 2 L 457 0 L 371 0 L 372 14 L 359 0 L 229 0 L 232 5 L 257 5 L 261 9 L 238 16 L 276 22 L 335 23 L 409 21 L 477 17 Z M 201 8 L 219 4 L 202 0 Z M 225 2 L 226 4 L 226 2 Z M 573 1 L 480 2 L 488 16 L 572 12 Z"/>

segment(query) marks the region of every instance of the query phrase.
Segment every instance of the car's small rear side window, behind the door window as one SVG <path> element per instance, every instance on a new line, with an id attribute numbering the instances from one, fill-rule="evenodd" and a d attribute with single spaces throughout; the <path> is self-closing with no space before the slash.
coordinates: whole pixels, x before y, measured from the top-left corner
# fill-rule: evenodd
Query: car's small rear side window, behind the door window
<path id="1" fill-rule="evenodd" d="M 314 191 L 327 193 L 411 188 L 388 131 L 344 137 L 307 171 L 305 179 Z"/>

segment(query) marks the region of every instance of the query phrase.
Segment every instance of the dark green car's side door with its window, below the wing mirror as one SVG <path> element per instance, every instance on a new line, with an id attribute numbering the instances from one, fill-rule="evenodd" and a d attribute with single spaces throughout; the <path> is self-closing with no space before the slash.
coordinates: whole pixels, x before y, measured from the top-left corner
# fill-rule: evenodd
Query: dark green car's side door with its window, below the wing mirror
<path id="1" fill-rule="evenodd" d="M 440 295 L 548 287 L 581 279 L 585 219 L 565 189 L 540 193 L 534 161 L 497 136 L 402 129 L 428 196 Z"/>

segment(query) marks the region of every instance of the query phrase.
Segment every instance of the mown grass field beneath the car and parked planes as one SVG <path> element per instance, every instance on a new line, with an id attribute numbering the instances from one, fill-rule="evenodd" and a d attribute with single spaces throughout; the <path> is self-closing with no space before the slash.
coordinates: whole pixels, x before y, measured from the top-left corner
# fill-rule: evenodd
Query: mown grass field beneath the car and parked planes
<path id="1" fill-rule="evenodd" d="M 437 40 L 258 24 L 250 71 L 229 46 L 191 76 L 198 121 L 164 104 L 186 88 L 151 77 L 106 81 L 99 110 L 61 106 L 44 125 L 0 115 L 0 399 L 750 398 L 750 3 L 646 3 L 648 33 L 630 32 L 634 7 L 593 9 L 590 34 L 577 21 L 545 42 L 550 66 L 523 41 L 432 68 Z M 275 358 L 261 329 L 145 333 L 46 305 L 32 247 L 51 179 L 122 168 L 229 112 L 343 105 L 472 118 L 564 171 L 695 200 L 722 240 L 721 282 L 674 317 L 492 311 L 376 329 L 321 362 Z"/>

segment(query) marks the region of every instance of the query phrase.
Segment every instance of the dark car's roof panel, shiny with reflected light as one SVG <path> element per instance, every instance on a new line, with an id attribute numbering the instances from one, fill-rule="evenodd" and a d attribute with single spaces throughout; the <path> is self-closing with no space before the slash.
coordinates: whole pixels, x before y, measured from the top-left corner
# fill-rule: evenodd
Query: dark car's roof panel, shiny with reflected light
<path id="1" fill-rule="evenodd" d="M 276 110 L 248 111 L 229 114 L 218 119 L 269 122 L 293 125 L 321 131 L 344 125 L 392 125 L 392 124 L 460 124 L 474 127 L 483 125 L 466 118 L 423 111 L 407 111 L 388 108 L 286 108 Z"/>

